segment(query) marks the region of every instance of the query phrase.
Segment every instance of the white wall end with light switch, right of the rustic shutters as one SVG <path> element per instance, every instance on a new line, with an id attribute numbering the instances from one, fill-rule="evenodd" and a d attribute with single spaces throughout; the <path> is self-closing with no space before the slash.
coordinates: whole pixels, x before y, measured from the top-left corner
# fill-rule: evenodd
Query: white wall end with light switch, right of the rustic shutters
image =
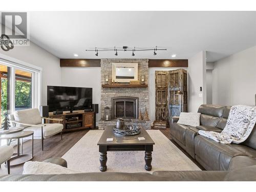
<path id="1" fill-rule="evenodd" d="M 197 112 L 206 103 L 206 52 L 188 59 L 188 112 Z M 202 87 L 202 97 L 199 95 Z"/>

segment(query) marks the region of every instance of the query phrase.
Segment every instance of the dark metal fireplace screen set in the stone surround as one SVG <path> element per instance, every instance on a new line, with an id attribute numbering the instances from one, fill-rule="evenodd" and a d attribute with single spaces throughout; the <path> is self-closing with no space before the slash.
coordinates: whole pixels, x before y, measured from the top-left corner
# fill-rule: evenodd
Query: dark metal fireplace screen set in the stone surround
<path id="1" fill-rule="evenodd" d="M 138 114 L 137 97 L 112 98 L 113 117 L 124 119 L 136 119 Z"/>

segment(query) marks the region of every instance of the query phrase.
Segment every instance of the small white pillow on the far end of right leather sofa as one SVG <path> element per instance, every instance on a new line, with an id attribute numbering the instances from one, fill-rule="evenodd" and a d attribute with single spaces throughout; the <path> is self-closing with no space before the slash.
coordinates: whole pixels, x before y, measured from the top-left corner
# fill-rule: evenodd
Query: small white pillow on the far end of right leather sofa
<path id="1" fill-rule="evenodd" d="M 201 113 L 180 113 L 180 117 L 177 123 L 190 125 L 190 126 L 199 126 L 200 125 L 200 115 Z"/>

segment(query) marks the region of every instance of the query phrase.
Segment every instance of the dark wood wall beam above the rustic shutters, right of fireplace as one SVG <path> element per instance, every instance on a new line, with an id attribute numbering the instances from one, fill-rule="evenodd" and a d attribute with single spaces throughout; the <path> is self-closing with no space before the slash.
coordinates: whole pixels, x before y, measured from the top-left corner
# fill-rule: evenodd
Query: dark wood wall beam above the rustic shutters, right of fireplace
<path id="1" fill-rule="evenodd" d="M 187 59 L 148 59 L 150 68 L 181 68 L 188 67 Z"/>

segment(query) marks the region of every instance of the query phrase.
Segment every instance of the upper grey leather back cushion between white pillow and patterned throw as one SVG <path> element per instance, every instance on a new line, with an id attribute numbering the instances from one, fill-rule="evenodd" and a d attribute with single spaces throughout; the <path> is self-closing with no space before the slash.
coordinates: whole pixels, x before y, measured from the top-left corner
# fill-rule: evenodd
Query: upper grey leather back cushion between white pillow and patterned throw
<path id="1" fill-rule="evenodd" d="M 201 104 L 198 109 L 198 113 L 221 117 L 224 113 L 225 106 L 212 105 L 212 104 Z"/>

